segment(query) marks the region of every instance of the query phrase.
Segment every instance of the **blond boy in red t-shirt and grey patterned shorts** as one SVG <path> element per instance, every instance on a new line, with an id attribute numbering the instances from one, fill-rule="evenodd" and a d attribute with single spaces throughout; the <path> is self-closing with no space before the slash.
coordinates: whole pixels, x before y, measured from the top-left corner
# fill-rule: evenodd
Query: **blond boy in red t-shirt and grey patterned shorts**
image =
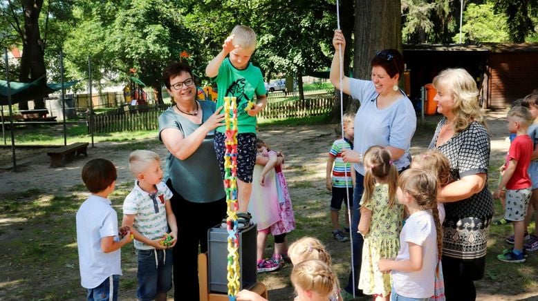
<path id="1" fill-rule="evenodd" d="M 525 215 L 530 200 L 532 183 L 528 175 L 530 157 L 532 155 L 532 139 L 527 130 L 532 122 L 532 115 L 527 108 L 515 106 L 508 112 L 508 130 L 516 133 L 510 144 L 503 177 L 495 190 L 494 197 L 499 198 L 503 188 L 505 193 L 504 218 L 514 224 L 514 248 L 503 251 L 497 259 L 503 262 L 525 262 L 523 254 L 523 233 L 525 231 Z"/>

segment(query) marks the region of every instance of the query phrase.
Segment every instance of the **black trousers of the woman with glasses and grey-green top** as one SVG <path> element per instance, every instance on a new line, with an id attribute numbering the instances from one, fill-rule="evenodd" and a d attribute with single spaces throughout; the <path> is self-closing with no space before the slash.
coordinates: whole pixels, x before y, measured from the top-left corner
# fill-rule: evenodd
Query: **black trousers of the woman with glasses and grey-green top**
<path id="1" fill-rule="evenodd" d="M 226 217 L 225 198 L 210 203 L 193 203 L 174 193 L 171 207 L 178 223 L 178 242 L 174 246 L 174 300 L 199 300 L 198 248 L 207 252 L 207 230 Z"/>

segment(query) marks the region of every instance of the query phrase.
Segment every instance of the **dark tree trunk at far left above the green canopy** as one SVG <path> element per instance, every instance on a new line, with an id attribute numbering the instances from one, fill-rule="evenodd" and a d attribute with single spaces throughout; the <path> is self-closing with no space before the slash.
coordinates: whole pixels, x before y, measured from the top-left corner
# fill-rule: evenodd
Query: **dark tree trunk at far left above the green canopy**
<path id="1" fill-rule="evenodd" d="M 45 49 L 39 32 L 39 13 L 43 0 L 21 1 L 24 7 L 24 37 L 19 81 L 27 83 L 46 75 Z M 43 98 L 34 99 L 34 108 L 43 109 Z M 19 110 L 28 110 L 28 102 L 21 101 Z"/>

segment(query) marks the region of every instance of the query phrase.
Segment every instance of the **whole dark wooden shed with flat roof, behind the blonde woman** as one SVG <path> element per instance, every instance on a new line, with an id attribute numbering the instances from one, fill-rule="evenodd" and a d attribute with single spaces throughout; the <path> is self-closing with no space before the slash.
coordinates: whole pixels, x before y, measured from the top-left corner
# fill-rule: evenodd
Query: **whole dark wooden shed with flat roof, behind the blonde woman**
<path id="1" fill-rule="evenodd" d="M 420 97 L 420 87 L 445 68 L 465 68 L 488 108 L 505 108 L 538 88 L 538 43 L 405 45 L 403 55 L 410 69 L 411 99 Z"/>

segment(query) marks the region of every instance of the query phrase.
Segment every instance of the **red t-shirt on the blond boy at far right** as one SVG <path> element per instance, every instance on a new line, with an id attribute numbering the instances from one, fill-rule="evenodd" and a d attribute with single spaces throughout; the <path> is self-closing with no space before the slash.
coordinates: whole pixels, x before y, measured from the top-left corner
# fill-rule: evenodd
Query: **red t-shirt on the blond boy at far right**
<path id="1" fill-rule="evenodd" d="M 510 144 L 508 155 L 506 155 L 506 166 L 508 166 L 511 159 L 516 160 L 517 164 L 514 174 L 506 184 L 506 189 L 516 190 L 532 186 L 527 170 L 533 148 L 532 139 L 530 139 L 529 135 L 516 136 Z"/>

